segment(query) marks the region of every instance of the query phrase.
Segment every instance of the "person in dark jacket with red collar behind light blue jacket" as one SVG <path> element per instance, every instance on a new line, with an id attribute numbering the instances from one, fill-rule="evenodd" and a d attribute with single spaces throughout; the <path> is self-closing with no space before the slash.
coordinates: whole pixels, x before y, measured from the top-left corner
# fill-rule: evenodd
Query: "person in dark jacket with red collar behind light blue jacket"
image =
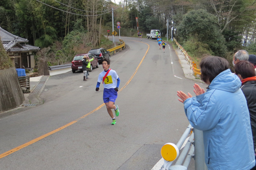
<path id="1" fill-rule="evenodd" d="M 256 77 L 254 66 L 249 61 L 239 61 L 234 66 L 234 71 L 242 82 L 241 90 L 243 91 L 247 101 L 250 113 L 254 153 L 256 155 Z M 256 166 L 252 169 L 256 169 Z"/>

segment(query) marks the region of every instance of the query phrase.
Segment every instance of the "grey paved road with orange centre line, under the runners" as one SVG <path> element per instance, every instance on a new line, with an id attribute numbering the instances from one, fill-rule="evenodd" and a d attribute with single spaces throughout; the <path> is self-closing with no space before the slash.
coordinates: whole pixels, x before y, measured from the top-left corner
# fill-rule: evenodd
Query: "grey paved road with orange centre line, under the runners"
<path id="1" fill-rule="evenodd" d="M 10 151 L 0 169 L 151 169 L 162 145 L 177 143 L 189 123 L 176 91 L 193 93 L 195 81 L 172 47 L 163 53 L 155 40 L 122 39 L 127 48 L 111 57 L 121 80 L 117 124 L 102 105 L 102 84 L 95 91 L 101 65 L 88 81 L 81 71 L 51 76 L 44 104 L 0 118 L 0 154 Z"/>

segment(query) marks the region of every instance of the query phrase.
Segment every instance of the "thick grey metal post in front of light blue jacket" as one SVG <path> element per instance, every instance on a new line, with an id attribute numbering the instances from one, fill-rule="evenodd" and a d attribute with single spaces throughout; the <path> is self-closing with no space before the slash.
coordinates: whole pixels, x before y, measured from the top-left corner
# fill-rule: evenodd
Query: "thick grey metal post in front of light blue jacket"
<path id="1" fill-rule="evenodd" d="M 203 131 L 194 128 L 195 135 L 195 168 L 196 170 L 207 170 L 207 166 L 204 161 L 204 139 Z"/>

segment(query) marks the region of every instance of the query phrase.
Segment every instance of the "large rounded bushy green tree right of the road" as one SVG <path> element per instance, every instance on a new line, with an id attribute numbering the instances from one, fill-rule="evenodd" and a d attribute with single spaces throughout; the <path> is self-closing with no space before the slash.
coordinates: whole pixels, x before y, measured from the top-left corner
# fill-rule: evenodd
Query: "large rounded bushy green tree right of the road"
<path id="1" fill-rule="evenodd" d="M 225 39 L 215 21 L 216 17 L 206 10 L 189 11 L 178 27 L 179 37 L 183 41 L 195 37 L 199 42 L 207 44 L 213 55 L 224 57 Z"/>

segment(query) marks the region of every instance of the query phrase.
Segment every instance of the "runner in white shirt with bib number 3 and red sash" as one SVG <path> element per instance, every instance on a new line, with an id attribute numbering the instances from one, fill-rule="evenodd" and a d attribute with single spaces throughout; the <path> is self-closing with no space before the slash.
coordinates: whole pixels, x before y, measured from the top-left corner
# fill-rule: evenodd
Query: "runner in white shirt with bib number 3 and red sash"
<path id="1" fill-rule="evenodd" d="M 114 109 L 116 116 L 119 116 L 119 108 L 117 105 L 115 105 L 115 101 L 117 99 L 117 91 L 120 84 L 120 79 L 116 71 L 110 69 L 110 61 L 108 59 L 103 59 L 102 67 L 104 70 L 99 74 L 96 91 L 99 91 L 99 86 L 102 82 L 104 86 L 103 101 L 106 105 L 106 110 L 108 110 L 108 113 L 112 118 L 111 125 L 115 125 L 116 118 L 114 117 L 111 109 Z"/>

